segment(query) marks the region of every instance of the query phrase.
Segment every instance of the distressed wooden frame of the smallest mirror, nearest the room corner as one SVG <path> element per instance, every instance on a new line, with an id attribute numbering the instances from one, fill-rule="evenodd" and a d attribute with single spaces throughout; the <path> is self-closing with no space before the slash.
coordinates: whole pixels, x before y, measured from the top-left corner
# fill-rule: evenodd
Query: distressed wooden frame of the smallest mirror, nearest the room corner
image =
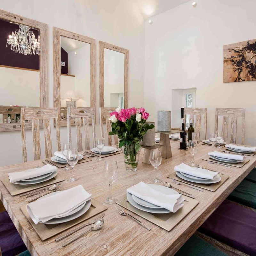
<path id="1" fill-rule="evenodd" d="M 128 61 L 129 51 L 113 44 L 100 41 L 100 108 L 104 108 L 104 50 L 124 53 L 124 108 L 128 108 Z"/>

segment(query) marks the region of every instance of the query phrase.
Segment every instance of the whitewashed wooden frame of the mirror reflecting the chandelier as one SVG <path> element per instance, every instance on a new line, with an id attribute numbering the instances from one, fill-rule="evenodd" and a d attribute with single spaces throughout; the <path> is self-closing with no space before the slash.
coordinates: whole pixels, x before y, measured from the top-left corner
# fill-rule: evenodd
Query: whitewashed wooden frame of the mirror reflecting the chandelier
<path id="1" fill-rule="evenodd" d="M 0 18 L 6 21 L 20 23 L 40 31 L 39 79 L 40 79 L 40 108 L 47 108 L 47 24 L 0 10 Z M 10 107 L 12 108 L 12 107 Z M 8 108 L 8 109 L 10 109 Z M 32 129 L 32 123 L 26 123 L 26 129 Z M 21 123 L 0 124 L 0 132 L 21 130 Z"/>

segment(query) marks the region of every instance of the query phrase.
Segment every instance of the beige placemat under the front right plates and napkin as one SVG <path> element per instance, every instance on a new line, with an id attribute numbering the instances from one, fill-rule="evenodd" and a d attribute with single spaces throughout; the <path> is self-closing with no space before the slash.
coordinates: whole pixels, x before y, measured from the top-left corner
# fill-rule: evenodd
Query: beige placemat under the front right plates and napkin
<path id="1" fill-rule="evenodd" d="M 181 207 L 177 212 L 173 213 L 150 213 L 150 212 L 144 212 L 140 209 L 132 206 L 127 201 L 127 198 L 124 197 L 123 199 L 117 201 L 116 203 L 123 206 L 124 208 L 130 210 L 131 212 L 136 213 L 140 217 L 156 224 L 157 226 L 164 228 L 167 231 L 172 230 L 189 212 L 191 212 L 197 204 L 199 204 L 199 201 L 192 199 L 188 196 L 182 196 L 185 198 L 188 202 L 184 202 L 184 206 Z"/>

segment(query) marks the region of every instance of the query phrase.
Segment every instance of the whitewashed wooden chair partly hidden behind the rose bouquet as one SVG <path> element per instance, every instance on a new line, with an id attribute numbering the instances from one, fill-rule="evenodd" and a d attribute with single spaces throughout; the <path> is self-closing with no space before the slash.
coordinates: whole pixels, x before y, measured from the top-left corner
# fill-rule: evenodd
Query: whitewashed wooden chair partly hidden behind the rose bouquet
<path id="1" fill-rule="evenodd" d="M 112 131 L 111 121 L 108 120 L 109 113 L 116 111 L 116 108 L 100 108 L 100 134 L 101 137 L 104 137 L 103 123 L 106 122 L 107 134 Z M 106 140 L 105 140 L 106 141 Z M 117 135 L 108 135 L 108 146 L 118 144 Z"/>

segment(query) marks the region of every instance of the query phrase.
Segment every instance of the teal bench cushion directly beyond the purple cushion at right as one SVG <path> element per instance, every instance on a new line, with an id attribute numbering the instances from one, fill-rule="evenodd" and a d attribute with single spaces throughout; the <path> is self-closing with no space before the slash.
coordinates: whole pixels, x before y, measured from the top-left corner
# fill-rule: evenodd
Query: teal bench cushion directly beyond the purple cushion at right
<path id="1" fill-rule="evenodd" d="M 228 199 L 256 209 L 256 183 L 243 180 L 228 196 Z"/>

